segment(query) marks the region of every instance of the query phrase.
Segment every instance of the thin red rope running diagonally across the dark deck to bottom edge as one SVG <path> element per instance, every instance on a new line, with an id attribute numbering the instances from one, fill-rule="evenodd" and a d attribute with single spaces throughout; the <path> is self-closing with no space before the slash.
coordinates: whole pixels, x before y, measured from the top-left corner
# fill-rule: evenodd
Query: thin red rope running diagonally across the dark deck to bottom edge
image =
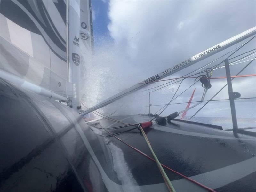
<path id="1" fill-rule="evenodd" d="M 105 131 L 111 134 L 111 132 L 109 132 L 108 130 L 105 130 Z M 146 156 L 148 159 L 150 159 L 150 160 L 152 160 L 152 161 L 155 161 L 155 159 L 151 158 L 150 156 L 148 156 L 147 154 L 143 153 L 143 152 L 140 151 L 139 149 L 137 149 L 137 148 L 135 148 L 135 147 L 132 147 L 132 146 L 129 145 L 128 143 L 125 143 L 123 140 L 121 140 L 120 138 L 116 137 L 115 135 L 113 135 L 113 136 L 114 136 L 116 139 L 118 139 L 118 140 L 120 140 L 121 142 L 123 142 L 125 145 L 129 146 L 130 148 L 134 149 L 135 151 L 139 152 L 140 154 Z M 155 161 L 155 162 L 156 162 L 156 161 Z M 181 174 L 181 173 L 179 173 L 179 172 L 177 172 L 177 171 L 175 171 L 175 170 L 173 170 L 173 169 L 171 169 L 171 168 L 169 168 L 169 167 L 167 167 L 167 166 L 164 165 L 164 164 L 161 164 L 161 165 L 162 165 L 163 167 L 165 167 L 166 169 L 168 169 L 168 170 L 170 170 L 170 171 L 172 171 L 172 172 L 174 172 L 174 173 L 176 173 L 176 174 L 178 174 L 178 175 L 184 177 L 185 179 L 187 179 L 187 180 L 189 180 L 189 181 L 191 181 L 191 182 L 193 182 L 193 183 L 199 185 L 200 187 L 207 189 L 208 191 L 216 192 L 216 191 L 214 191 L 213 189 L 211 189 L 211 188 L 209 188 L 209 187 L 207 187 L 207 186 L 205 186 L 205 185 L 203 185 L 203 184 L 201 184 L 201 183 L 199 183 L 199 182 L 197 182 L 197 181 L 195 181 L 195 180 L 193 180 L 193 179 L 191 179 L 191 178 L 189 178 L 189 177 L 187 177 L 187 176 L 185 176 L 185 175 L 183 175 L 183 174 Z"/>

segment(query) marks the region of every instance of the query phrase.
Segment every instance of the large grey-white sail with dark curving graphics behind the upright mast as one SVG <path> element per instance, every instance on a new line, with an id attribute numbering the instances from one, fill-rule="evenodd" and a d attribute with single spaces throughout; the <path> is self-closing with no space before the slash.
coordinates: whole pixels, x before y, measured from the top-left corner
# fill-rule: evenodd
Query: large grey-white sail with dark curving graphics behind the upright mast
<path id="1" fill-rule="evenodd" d="M 68 17 L 69 4 L 78 6 L 79 20 Z M 74 61 L 67 58 L 68 41 L 71 41 L 67 25 L 78 23 L 80 30 L 80 12 L 81 22 L 88 26 L 83 38 L 87 35 L 90 49 L 92 46 L 91 2 L 81 1 L 81 7 L 79 4 L 76 0 L 0 1 L 0 75 L 13 76 L 16 80 L 21 79 L 20 84 L 26 82 L 35 85 L 36 89 L 49 91 L 57 100 L 68 98 L 67 101 L 72 101 L 77 97 L 79 84 L 70 79 L 70 66 Z M 73 41 L 75 37 L 72 38 Z M 78 33 L 76 43 L 79 38 Z M 80 49 L 78 51 L 76 54 L 80 55 Z"/>

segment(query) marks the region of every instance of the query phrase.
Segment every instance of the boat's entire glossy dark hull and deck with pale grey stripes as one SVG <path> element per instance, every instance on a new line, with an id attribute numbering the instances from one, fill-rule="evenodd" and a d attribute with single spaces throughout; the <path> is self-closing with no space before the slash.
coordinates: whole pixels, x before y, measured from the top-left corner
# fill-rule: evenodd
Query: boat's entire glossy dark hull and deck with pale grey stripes
<path id="1" fill-rule="evenodd" d="M 123 143 L 96 128 L 119 123 L 88 125 L 70 107 L 3 80 L 0 97 L 6 127 L 0 134 L 0 191 L 167 191 L 156 163 L 127 145 L 152 157 L 139 130 L 116 135 Z M 151 117 L 113 118 L 139 123 Z M 255 137 L 183 121 L 145 132 L 159 161 L 174 171 L 215 191 L 256 190 Z M 207 191 L 164 169 L 176 191 Z"/>

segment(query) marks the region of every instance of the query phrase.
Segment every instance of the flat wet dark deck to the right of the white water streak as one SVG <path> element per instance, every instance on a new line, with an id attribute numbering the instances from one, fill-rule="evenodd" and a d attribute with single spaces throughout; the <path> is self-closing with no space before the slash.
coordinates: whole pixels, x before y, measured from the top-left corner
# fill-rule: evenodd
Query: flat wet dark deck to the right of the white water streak
<path id="1" fill-rule="evenodd" d="M 116 116 L 112 118 L 131 124 L 152 119 L 152 117 L 138 115 Z M 99 128 L 123 125 L 106 119 L 94 122 L 99 122 L 96 125 Z M 104 142 L 108 143 L 108 150 L 119 150 L 119 154 L 123 156 L 121 164 L 128 167 L 132 178 L 136 180 L 138 185 L 164 182 L 155 162 L 142 156 L 116 138 L 105 137 L 109 135 L 105 130 L 93 126 L 90 126 L 90 128 L 98 135 L 99 140 L 104 140 Z M 113 134 L 130 128 L 132 127 L 109 130 L 109 132 Z M 237 180 L 241 180 L 240 182 L 243 182 L 244 186 L 247 186 L 247 184 L 250 186 L 246 190 L 256 189 L 256 184 L 251 183 L 251 179 L 243 181 L 243 178 L 247 175 L 252 174 L 248 176 L 249 178 L 255 176 L 255 137 L 178 121 L 167 123 L 166 126 L 153 125 L 145 132 L 160 162 L 175 171 L 195 178 L 208 187 L 218 189 L 217 191 L 222 191 L 222 187 L 230 185 L 230 183 Z M 134 129 L 124 132 L 117 135 L 117 137 L 152 157 L 139 130 Z M 104 161 L 101 163 L 104 164 Z M 247 166 L 251 166 L 251 168 L 248 169 Z M 234 172 L 233 169 L 236 168 L 239 168 L 239 173 L 232 175 L 231 172 Z M 171 171 L 167 171 L 167 175 L 174 183 L 178 180 L 184 180 L 181 176 Z M 182 186 L 176 184 L 176 188 L 182 189 Z M 232 186 L 225 189 L 227 191 L 237 191 L 237 188 Z M 244 190 L 244 188 L 240 189 Z M 183 190 L 185 189 L 183 188 Z"/>

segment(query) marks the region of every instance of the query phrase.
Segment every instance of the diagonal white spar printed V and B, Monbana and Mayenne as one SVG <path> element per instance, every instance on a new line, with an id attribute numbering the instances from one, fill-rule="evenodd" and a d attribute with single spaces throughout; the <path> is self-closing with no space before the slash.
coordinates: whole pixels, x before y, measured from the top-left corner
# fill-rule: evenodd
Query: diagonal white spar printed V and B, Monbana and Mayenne
<path id="1" fill-rule="evenodd" d="M 209 49 L 206 49 L 204 50 L 203 52 L 200 52 L 196 55 L 194 55 L 193 57 L 190 57 L 188 58 L 187 60 L 181 62 L 181 63 L 178 63 L 177 65 L 174 65 L 158 74 L 156 74 L 155 76 L 152 76 L 138 84 L 135 84 L 134 86 L 120 92 L 120 93 L 117 93 L 116 95 L 98 103 L 97 105 L 93 106 L 92 108 L 89 108 L 87 109 L 86 111 L 82 112 L 81 115 L 85 115 L 87 113 L 90 113 L 94 110 L 97 110 L 101 107 L 104 107 L 122 97 L 124 97 L 125 95 L 129 94 L 129 93 L 132 93 L 134 91 L 137 91 L 139 90 L 140 88 L 142 87 L 145 87 L 147 86 L 149 83 L 154 83 L 156 80 L 160 80 L 160 79 L 163 79 L 169 75 L 172 75 L 178 71 L 180 71 L 181 69 L 184 69 L 188 66 L 191 66 L 203 59 L 206 59 L 207 57 L 209 56 L 212 56 L 214 55 L 215 53 L 218 53 L 220 51 L 223 51 L 224 49 L 236 44 L 236 43 L 239 43 L 241 41 L 243 41 L 244 39 L 250 37 L 250 36 L 253 36 L 256 34 L 256 27 L 253 27 L 247 31 L 244 31 L 243 33 L 240 33 L 234 37 L 231 37 L 230 39 L 226 40 L 226 41 L 223 41 Z"/>

